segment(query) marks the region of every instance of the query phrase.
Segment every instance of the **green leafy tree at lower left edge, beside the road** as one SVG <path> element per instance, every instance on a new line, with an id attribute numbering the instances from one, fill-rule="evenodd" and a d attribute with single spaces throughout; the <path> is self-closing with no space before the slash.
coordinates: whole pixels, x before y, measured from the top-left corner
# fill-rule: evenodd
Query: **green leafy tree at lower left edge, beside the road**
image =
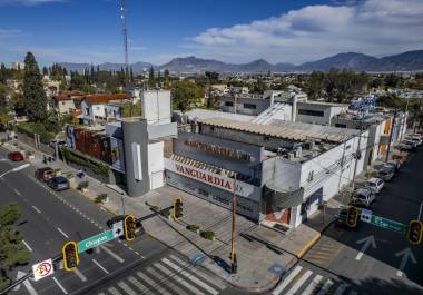
<path id="1" fill-rule="evenodd" d="M 0 289 L 10 284 L 6 276 L 18 265 L 30 262 L 30 252 L 22 245 L 22 235 L 16 229 L 21 212 L 17 203 L 0 206 Z"/>

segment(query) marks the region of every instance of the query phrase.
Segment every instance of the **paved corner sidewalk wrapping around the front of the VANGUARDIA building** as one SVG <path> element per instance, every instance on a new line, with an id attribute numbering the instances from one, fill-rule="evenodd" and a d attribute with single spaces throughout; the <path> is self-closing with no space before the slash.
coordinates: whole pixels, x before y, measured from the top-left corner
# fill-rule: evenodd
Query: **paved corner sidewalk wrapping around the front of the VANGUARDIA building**
<path id="1" fill-rule="evenodd" d="M 35 157 L 29 161 L 35 168 L 46 166 L 42 164 L 42 153 L 22 142 L 19 142 L 19 146 L 33 153 Z M 3 147 L 16 149 L 10 144 L 6 144 Z M 73 175 L 76 173 L 76 169 L 59 160 L 48 163 L 48 166 L 61 169 L 63 173 L 69 171 Z M 164 208 L 173 205 L 175 196 L 181 196 L 184 200 L 181 222 L 156 216 L 142 222 L 146 232 L 188 259 L 193 255 L 204 255 L 206 258 L 201 263 L 203 266 L 226 279 L 234 287 L 257 293 L 272 289 L 278 283 L 281 275 L 287 272 L 318 240 L 321 233 L 325 230 L 337 213 L 341 200 L 341 197 L 335 197 L 328 201 L 325 218 L 322 212 L 316 212 L 304 224 L 287 234 L 258 226 L 237 215 L 235 247 L 238 272 L 236 275 L 232 275 L 228 272 L 230 269 L 232 229 L 229 210 L 169 186 L 151 190 L 138 198 L 121 195 L 116 188 L 108 187 L 88 176 L 83 179 L 76 178 L 71 181 L 71 187 L 76 188 L 82 180 L 89 180 L 89 186 L 88 191 L 81 194 L 91 201 L 97 195 L 107 194 L 108 203 L 100 206 L 116 215 L 125 212 L 125 214 L 135 214 L 137 217 L 147 216 L 153 212 L 146 204 Z M 215 232 L 216 239 L 208 240 L 197 233 L 186 229 L 188 224 L 198 225 L 200 230 Z"/>

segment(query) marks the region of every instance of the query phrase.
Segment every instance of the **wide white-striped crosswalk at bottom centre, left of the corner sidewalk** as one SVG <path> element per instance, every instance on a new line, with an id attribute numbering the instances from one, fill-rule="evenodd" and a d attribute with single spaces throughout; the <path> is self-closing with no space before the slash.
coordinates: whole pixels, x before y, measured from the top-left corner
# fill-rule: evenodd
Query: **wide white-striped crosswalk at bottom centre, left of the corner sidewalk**
<path id="1" fill-rule="evenodd" d="M 218 295 L 225 288 L 226 284 L 220 278 L 169 255 L 106 286 L 97 295 Z"/>

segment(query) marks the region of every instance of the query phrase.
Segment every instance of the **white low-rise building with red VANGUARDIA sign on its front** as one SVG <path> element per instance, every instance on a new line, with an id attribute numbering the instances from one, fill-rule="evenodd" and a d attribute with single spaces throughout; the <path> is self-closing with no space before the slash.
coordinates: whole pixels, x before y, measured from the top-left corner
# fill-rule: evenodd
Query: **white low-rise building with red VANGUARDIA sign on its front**
<path id="1" fill-rule="evenodd" d="M 165 158 L 166 183 L 226 208 L 235 191 L 237 213 L 293 228 L 362 171 L 356 151 L 366 138 L 367 131 L 283 120 L 199 119 L 179 128 Z"/>

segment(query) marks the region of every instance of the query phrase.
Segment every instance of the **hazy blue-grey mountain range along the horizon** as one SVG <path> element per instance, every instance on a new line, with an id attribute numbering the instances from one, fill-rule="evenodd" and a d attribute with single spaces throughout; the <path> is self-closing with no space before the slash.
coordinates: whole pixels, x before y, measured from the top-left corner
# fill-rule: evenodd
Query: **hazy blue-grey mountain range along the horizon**
<path id="1" fill-rule="evenodd" d="M 83 71 L 90 68 L 89 63 L 59 63 L 68 70 Z M 124 63 L 101 63 L 101 70 L 120 70 Z M 316 61 L 293 65 L 287 62 L 269 63 L 264 59 L 257 59 L 248 63 L 227 63 L 214 59 L 201 59 L 194 56 L 174 58 L 169 62 L 158 66 L 149 62 L 136 62 L 130 65 L 134 72 L 141 72 L 153 67 L 155 70 L 165 69 L 170 72 L 308 72 L 313 70 L 327 71 L 331 68 L 350 69 L 354 71 L 419 71 L 423 70 L 423 50 L 407 51 L 400 55 L 376 58 L 356 52 L 338 53 Z M 97 67 L 97 66 L 96 66 Z"/>

